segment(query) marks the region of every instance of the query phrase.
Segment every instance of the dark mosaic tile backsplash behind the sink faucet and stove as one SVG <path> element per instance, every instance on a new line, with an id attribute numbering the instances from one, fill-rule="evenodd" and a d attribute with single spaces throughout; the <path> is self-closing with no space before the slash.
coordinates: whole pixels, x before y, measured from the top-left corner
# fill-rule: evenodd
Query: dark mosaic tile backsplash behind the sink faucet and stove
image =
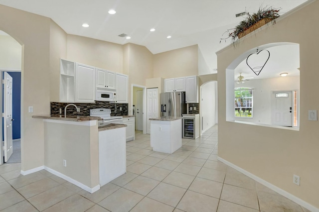
<path id="1" fill-rule="evenodd" d="M 62 110 L 62 115 L 64 115 L 64 107 L 70 103 L 57 103 L 51 102 L 51 115 L 60 115 L 60 108 Z M 77 107 L 80 108 L 80 112 L 76 112 L 74 106 L 68 106 L 66 109 L 67 115 L 90 115 L 90 109 L 95 108 L 109 108 L 111 109 L 111 115 L 128 115 L 129 114 L 129 104 L 117 104 L 109 102 L 95 101 L 95 103 L 74 103 Z M 122 110 L 120 110 L 122 107 Z"/>

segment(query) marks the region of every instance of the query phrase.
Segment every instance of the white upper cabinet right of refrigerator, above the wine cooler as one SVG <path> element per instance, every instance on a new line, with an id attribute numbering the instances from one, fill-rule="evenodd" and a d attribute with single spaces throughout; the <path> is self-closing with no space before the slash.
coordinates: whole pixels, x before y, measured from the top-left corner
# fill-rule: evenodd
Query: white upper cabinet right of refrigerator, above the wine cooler
<path id="1" fill-rule="evenodd" d="M 198 77 L 189 76 L 185 77 L 186 82 L 186 92 L 185 92 L 185 102 L 186 103 L 198 103 Z"/>

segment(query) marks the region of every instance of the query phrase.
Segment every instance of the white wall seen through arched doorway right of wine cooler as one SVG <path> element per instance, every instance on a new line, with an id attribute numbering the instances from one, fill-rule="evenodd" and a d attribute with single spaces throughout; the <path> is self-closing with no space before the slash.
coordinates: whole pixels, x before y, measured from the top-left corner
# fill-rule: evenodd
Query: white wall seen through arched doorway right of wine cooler
<path id="1" fill-rule="evenodd" d="M 217 123 L 217 82 L 207 82 L 200 87 L 201 90 L 201 118 L 202 132 Z"/>

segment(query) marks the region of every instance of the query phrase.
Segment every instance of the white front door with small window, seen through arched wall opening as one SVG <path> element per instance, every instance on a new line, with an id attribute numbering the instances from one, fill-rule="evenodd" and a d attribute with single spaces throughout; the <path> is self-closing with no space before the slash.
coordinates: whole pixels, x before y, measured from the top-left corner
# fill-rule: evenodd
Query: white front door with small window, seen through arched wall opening
<path id="1" fill-rule="evenodd" d="M 293 92 L 272 92 L 272 124 L 279 126 L 293 126 Z"/>

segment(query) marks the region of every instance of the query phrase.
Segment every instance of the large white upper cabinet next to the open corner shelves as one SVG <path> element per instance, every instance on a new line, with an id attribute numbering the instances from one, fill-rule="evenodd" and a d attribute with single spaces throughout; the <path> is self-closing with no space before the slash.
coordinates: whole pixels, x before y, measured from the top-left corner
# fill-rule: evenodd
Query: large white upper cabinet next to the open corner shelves
<path id="1" fill-rule="evenodd" d="M 75 103 L 94 103 L 95 67 L 75 63 Z"/>

